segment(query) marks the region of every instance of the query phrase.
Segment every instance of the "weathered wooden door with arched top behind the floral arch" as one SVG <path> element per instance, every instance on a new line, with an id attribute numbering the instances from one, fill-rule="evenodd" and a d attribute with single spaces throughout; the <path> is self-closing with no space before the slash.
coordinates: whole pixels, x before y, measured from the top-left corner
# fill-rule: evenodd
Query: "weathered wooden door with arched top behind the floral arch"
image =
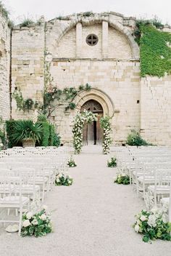
<path id="1" fill-rule="evenodd" d="M 101 126 L 100 119 L 103 116 L 103 108 L 100 103 L 96 100 L 88 100 L 81 107 L 81 111 L 91 111 L 93 113 L 97 113 L 97 121 L 93 121 L 93 123 L 85 124 L 83 129 L 83 145 L 101 145 Z"/>

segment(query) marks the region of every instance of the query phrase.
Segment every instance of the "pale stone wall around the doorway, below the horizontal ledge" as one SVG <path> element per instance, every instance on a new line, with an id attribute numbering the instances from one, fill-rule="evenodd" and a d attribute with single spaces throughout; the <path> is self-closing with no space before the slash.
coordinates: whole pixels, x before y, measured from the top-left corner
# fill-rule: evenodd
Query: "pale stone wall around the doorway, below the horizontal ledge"
<path id="1" fill-rule="evenodd" d="M 78 87 L 88 82 L 93 89 L 100 89 L 112 100 L 115 111 L 112 127 L 116 143 L 124 142 L 130 129 L 140 128 L 140 105 L 137 103 L 137 100 L 140 100 L 138 62 L 54 61 L 51 74 L 54 84 L 59 88 Z M 98 97 L 97 100 L 99 101 Z M 60 109 L 54 112 L 53 116 L 62 140 L 72 140 L 72 115 L 65 116 L 64 110 L 62 112 Z"/>

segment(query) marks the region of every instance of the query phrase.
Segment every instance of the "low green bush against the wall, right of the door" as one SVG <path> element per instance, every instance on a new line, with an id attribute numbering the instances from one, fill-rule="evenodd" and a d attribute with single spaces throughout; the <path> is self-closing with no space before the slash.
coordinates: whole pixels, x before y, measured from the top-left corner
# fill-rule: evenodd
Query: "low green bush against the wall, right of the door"
<path id="1" fill-rule="evenodd" d="M 136 132 L 135 130 L 132 130 L 131 133 L 128 135 L 126 143 L 128 145 L 136 145 L 136 146 L 151 145 L 147 143 L 146 140 L 143 140 L 139 132 Z"/>

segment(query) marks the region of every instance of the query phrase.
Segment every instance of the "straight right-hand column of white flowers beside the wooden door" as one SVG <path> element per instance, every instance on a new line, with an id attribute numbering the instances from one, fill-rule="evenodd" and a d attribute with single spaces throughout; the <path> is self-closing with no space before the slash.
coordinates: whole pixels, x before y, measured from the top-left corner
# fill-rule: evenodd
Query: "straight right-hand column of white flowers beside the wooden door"
<path id="1" fill-rule="evenodd" d="M 110 145 L 112 143 L 112 137 L 111 137 L 112 128 L 110 124 L 110 117 L 109 116 L 101 117 L 100 124 L 101 124 L 101 128 L 104 131 L 104 138 L 102 143 L 103 153 L 107 154 L 110 151 Z"/>

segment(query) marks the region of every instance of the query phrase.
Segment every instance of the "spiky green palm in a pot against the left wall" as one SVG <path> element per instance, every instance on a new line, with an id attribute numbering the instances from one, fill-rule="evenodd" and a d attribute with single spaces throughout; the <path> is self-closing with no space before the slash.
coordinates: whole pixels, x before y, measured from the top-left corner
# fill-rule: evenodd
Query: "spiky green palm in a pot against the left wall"
<path id="1" fill-rule="evenodd" d="M 35 147 L 36 141 L 41 140 L 42 126 L 31 120 L 19 120 L 14 124 L 14 143 L 22 143 L 22 147 Z"/>

